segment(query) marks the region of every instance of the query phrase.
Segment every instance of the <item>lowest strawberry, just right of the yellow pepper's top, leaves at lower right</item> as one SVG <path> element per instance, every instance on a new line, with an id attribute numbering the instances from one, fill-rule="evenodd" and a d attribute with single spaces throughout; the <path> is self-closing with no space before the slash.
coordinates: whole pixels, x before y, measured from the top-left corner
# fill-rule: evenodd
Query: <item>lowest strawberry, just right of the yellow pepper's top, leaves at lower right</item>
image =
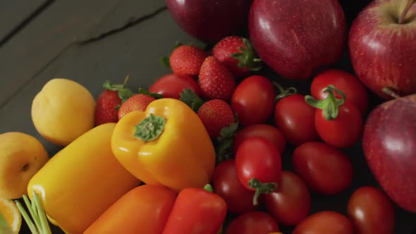
<path id="1" fill-rule="evenodd" d="M 231 106 L 221 99 L 213 99 L 202 104 L 197 111 L 210 137 L 220 136 L 221 129 L 234 123 L 235 116 Z"/>

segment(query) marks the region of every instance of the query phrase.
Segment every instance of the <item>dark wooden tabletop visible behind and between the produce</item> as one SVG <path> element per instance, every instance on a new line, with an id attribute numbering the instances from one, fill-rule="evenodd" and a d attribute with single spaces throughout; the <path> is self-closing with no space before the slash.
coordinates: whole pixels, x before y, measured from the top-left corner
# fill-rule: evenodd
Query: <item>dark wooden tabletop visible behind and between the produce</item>
<path id="1" fill-rule="evenodd" d="M 340 2 L 348 25 L 369 3 Z M 129 87 L 146 88 L 171 72 L 161 66 L 159 57 L 168 55 L 177 40 L 197 42 L 173 22 L 164 0 L 1 1 L 0 133 L 33 135 L 53 156 L 61 148 L 42 139 L 30 118 L 32 99 L 48 80 L 75 80 L 94 97 L 102 91 L 104 80 L 123 82 L 127 74 Z M 347 48 L 335 67 L 353 72 Z M 271 70 L 262 73 L 282 85 L 293 85 Z M 295 86 L 306 93 L 308 85 L 309 81 Z M 381 100 L 371 97 L 370 107 L 379 103 Z M 292 152 L 289 147 L 283 169 L 291 168 Z M 312 212 L 334 210 L 345 214 L 348 197 L 357 187 L 378 186 L 365 164 L 360 144 L 345 152 L 354 164 L 353 185 L 336 197 L 312 194 Z M 415 221 L 416 214 L 396 209 L 396 233 L 412 233 Z M 291 230 L 282 229 L 283 233 Z M 29 233 L 24 221 L 20 233 Z M 54 233 L 61 232 L 54 228 Z"/>

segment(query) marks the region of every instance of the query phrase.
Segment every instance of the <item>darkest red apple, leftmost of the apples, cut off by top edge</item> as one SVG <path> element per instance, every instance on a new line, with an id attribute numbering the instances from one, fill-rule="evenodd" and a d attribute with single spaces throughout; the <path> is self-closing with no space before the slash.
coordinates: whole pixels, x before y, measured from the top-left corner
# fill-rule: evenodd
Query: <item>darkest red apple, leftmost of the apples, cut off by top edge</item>
<path id="1" fill-rule="evenodd" d="M 166 0 L 182 30 L 210 43 L 245 30 L 251 4 L 252 0 Z"/>

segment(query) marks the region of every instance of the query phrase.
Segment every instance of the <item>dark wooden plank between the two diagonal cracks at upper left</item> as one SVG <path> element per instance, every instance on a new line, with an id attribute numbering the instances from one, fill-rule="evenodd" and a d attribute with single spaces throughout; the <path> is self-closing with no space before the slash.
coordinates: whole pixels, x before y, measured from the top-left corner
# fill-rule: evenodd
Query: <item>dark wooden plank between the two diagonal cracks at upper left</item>
<path id="1" fill-rule="evenodd" d="M 0 47 L 0 106 L 42 72 L 51 61 L 63 51 L 87 39 L 90 35 L 111 30 L 111 27 L 126 22 L 132 17 L 139 18 L 163 6 L 164 1 L 91 0 L 57 1 L 30 23 L 30 27 L 18 33 L 13 40 Z M 126 4 L 126 7 L 124 4 Z M 133 5 L 132 5 L 133 4 Z M 129 15 L 120 12 L 120 6 L 130 8 Z M 135 12 L 133 12 L 135 9 Z M 114 20 L 109 20 L 113 12 Z M 118 13 L 117 13 L 118 12 Z M 122 17 L 122 18 L 121 18 Z M 108 26 L 106 26 L 108 25 Z"/>

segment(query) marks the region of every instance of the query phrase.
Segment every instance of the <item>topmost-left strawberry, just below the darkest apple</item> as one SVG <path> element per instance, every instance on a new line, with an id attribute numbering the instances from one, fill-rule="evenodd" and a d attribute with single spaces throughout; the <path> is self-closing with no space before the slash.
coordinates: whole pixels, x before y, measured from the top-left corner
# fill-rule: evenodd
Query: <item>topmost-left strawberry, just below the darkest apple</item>
<path id="1" fill-rule="evenodd" d="M 197 77 L 205 58 L 207 54 L 200 47 L 177 44 L 169 57 L 169 64 L 166 65 L 169 65 L 173 73 Z M 163 59 L 164 63 L 167 63 L 168 58 Z"/>

